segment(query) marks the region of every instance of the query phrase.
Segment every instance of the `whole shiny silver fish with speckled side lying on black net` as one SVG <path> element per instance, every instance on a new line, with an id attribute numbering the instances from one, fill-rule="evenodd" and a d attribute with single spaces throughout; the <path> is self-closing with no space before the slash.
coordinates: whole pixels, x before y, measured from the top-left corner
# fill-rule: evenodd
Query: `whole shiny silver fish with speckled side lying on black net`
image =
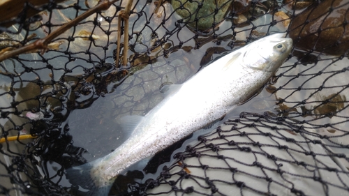
<path id="1" fill-rule="evenodd" d="M 283 33 L 256 40 L 209 64 L 184 84 L 170 87 L 172 92 L 145 116 L 125 118 L 139 123 L 124 144 L 89 163 L 89 184 L 95 186 L 89 195 L 107 195 L 124 169 L 244 103 L 279 69 L 291 48 L 292 40 L 283 38 Z"/>

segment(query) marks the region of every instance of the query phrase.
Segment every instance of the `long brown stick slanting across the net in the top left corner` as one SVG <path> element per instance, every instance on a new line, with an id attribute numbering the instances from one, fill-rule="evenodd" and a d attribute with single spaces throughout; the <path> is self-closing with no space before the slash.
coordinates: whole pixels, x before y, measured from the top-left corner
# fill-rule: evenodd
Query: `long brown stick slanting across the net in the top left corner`
<path id="1" fill-rule="evenodd" d="M 13 56 L 17 56 L 19 54 L 23 54 L 26 52 L 31 52 L 34 50 L 42 50 L 41 53 L 44 53 L 47 50 L 47 45 L 54 39 L 57 38 L 57 36 L 61 35 L 61 33 L 64 33 L 71 27 L 74 27 L 77 23 L 81 22 L 82 20 L 86 19 L 90 15 L 93 15 L 94 13 L 101 12 L 102 10 L 107 10 L 112 3 L 115 3 L 119 0 L 104 0 L 101 3 L 99 3 L 97 6 L 94 6 L 94 8 L 91 8 L 87 10 L 86 12 L 82 13 L 82 15 L 79 15 L 78 17 L 75 17 L 74 20 L 71 20 L 70 22 L 67 22 L 62 27 L 59 27 L 59 29 L 53 31 L 45 38 L 41 38 L 39 40 L 36 40 L 34 43 L 31 43 L 29 45 L 24 45 L 23 47 L 17 48 L 16 50 L 12 50 L 10 52 L 6 52 L 5 54 L 0 55 L 0 62 L 11 58 Z"/>

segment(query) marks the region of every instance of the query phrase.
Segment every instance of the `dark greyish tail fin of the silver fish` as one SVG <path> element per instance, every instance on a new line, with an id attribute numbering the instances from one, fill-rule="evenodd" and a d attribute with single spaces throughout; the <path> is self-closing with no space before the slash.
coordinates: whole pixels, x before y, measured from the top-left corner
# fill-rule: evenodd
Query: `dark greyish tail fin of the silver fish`
<path id="1" fill-rule="evenodd" d="M 66 178 L 72 185 L 80 186 L 83 189 L 81 192 L 79 191 L 82 195 L 107 196 L 114 183 L 114 179 L 101 183 L 101 181 L 103 181 L 101 176 L 96 176 L 98 174 L 91 172 L 96 162 L 98 162 L 98 160 L 66 169 Z"/>

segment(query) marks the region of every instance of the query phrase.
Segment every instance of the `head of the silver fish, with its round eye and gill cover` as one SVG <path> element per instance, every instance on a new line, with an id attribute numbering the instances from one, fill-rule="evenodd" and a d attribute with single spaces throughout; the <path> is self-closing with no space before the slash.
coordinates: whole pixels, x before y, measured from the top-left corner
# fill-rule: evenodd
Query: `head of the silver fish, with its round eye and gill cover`
<path id="1" fill-rule="evenodd" d="M 283 38 L 284 33 L 275 33 L 246 45 L 244 66 L 253 70 L 275 73 L 292 49 L 292 39 Z"/>

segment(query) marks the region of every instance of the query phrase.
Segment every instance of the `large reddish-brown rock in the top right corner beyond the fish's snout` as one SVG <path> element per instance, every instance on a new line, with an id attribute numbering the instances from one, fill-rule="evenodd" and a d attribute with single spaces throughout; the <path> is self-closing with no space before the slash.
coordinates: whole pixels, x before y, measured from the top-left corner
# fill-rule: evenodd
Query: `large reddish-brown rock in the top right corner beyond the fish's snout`
<path id="1" fill-rule="evenodd" d="M 348 1 L 314 3 L 290 24 L 290 38 L 302 50 L 342 55 L 349 49 Z"/>

